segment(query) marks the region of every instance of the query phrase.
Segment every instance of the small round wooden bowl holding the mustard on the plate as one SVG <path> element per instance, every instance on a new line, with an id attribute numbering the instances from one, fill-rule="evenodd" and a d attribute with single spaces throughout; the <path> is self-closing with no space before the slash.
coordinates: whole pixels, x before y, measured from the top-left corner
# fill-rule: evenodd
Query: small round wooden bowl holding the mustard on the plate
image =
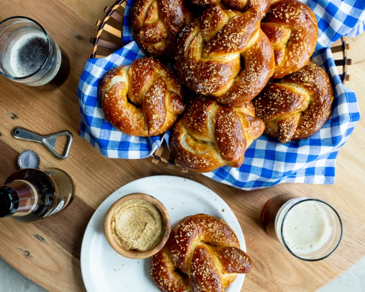
<path id="1" fill-rule="evenodd" d="M 122 203 L 129 201 L 129 200 L 135 200 L 135 199 L 145 200 L 147 202 L 154 204 L 159 209 L 159 211 L 161 212 L 162 218 L 164 219 L 164 234 L 161 237 L 159 243 L 157 243 L 157 245 L 155 247 L 153 247 L 152 249 L 145 251 L 145 252 L 138 252 L 135 250 L 128 250 L 128 249 L 124 248 L 114 239 L 113 233 L 111 231 L 111 218 L 113 217 L 115 210 Z M 170 231 L 171 231 L 170 215 L 168 215 L 168 212 L 167 212 L 165 206 L 162 204 L 162 202 L 160 202 L 156 198 L 154 198 L 150 195 L 142 194 L 142 193 L 129 194 L 129 195 L 126 195 L 126 196 L 120 198 L 118 201 L 116 201 L 114 204 L 111 205 L 110 209 L 108 210 L 107 216 L 105 217 L 105 221 L 104 221 L 104 233 L 105 233 L 105 236 L 107 237 L 107 240 L 108 240 L 110 246 L 118 254 L 128 257 L 128 258 L 140 259 L 140 258 L 147 258 L 147 257 L 157 254 L 164 247 L 164 245 L 170 235 Z"/>

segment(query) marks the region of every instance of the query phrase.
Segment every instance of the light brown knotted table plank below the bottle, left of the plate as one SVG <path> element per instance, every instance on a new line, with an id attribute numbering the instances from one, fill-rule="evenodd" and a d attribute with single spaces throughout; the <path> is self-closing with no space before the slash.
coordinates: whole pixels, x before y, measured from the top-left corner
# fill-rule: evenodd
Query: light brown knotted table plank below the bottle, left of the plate
<path id="1" fill-rule="evenodd" d="M 32 224 L 1 220 L 1 257 L 49 291 L 83 292 L 80 260 Z"/>

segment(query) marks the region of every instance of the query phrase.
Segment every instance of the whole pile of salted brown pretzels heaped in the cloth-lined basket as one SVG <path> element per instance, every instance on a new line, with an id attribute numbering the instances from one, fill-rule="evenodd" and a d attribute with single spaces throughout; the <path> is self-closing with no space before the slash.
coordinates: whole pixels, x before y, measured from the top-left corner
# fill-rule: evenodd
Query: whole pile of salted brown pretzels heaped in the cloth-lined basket
<path id="1" fill-rule="evenodd" d="M 131 20 L 149 56 L 105 74 L 105 119 L 132 136 L 171 130 L 184 167 L 240 167 L 261 134 L 307 139 L 331 115 L 329 76 L 310 59 L 317 21 L 299 0 L 133 0 Z"/>

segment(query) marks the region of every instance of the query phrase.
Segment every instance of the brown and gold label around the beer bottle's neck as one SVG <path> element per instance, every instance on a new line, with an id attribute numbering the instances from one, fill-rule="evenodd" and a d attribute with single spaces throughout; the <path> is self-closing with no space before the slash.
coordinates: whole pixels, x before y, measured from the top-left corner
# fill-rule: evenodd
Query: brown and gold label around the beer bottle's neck
<path id="1" fill-rule="evenodd" d="M 32 213 L 39 203 L 37 188 L 25 180 L 16 180 L 7 186 L 16 188 L 19 196 L 19 206 L 13 216 L 26 216 Z"/>

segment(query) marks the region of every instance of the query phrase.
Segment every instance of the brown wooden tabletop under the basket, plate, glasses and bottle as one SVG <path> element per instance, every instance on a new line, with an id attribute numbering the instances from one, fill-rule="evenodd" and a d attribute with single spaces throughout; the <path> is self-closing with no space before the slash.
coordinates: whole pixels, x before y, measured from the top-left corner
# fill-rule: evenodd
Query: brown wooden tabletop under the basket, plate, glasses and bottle
<path id="1" fill-rule="evenodd" d="M 251 192 L 215 182 L 203 175 L 168 169 L 143 160 L 107 159 L 78 136 L 80 112 L 77 98 L 79 76 L 91 53 L 90 37 L 96 19 L 112 0 L 12 0 L 0 2 L 0 19 L 24 15 L 39 21 L 71 59 L 66 83 L 51 92 L 39 92 L 0 78 L 0 183 L 17 170 L 18 153 L 33 149 L 41 157 L 41 168 L 58 167 L 76 183 L 73 203 L 63 212 L 35 224 L 0 219 L 0 256 L 19 272 L 45 289 L 56 292 L 85 291 L 80 270 L 82 237 L 94 210 L 122 185 L 152 175 L 175 175 L 211 188 L 234 211 L 245 236 L 253 271 L 242 291 L 308 292 L 322 287 L 365 256 L 365 121 L 360 120 L 337 158 L 334 185 L 285 183 Z M 347 86 L 357 93 L 360 108 L 365 82 L 365 34 L 347 38 L 353 65 L 347 67 Z M 103 53 L 103 52 L 101 52 Z M 100 53 L 99 53 L 100 54 Z M 341 53 L 338 56 L 341 56 Z M 11 130 L 29 128 L 42 134 L 70 130 L 74 144 L 69 158 L 55 159 L 42 145 L 16 140 Z M 329 258 L 305 262 L 291 256 L 262 226 L 261 212 L 276 195 L 292 192 L 323 199 L 339 212 L 344 225 L 342 243 Z M 135 279 L 137 280 L 137 279 Z"/>

